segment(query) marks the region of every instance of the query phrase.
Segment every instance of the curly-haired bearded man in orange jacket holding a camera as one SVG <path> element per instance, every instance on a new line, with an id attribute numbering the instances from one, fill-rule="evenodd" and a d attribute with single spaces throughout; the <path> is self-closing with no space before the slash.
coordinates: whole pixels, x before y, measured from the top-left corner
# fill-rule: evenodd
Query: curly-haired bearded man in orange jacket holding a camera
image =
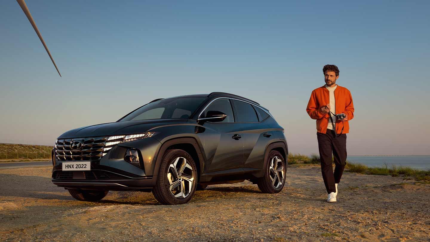
<path id="1" fill-rule="evenodd" d="M 346 165 L 346 134 L 349 132 L 348 121 L 354 117 L 354 105 L 350 91 L 336 84 L 339 78 L 338 67 L 325 65 L 322 72 L 326 85 L 312 91 L 306 112 L 310 118 L 316 119 L 322 179 L 329 194 L 327 202 L 336 202 L 338 183 Z M 344 118 L 338 119 L 337 114 L 343 114 Z M 332 153 L 336 164 L 334 174 Z"/>

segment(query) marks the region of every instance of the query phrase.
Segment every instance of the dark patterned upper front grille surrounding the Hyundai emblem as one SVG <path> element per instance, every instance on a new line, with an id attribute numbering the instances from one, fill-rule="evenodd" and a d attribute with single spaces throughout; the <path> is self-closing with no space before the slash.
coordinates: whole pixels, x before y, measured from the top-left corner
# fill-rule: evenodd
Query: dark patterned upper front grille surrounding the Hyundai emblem
<path id="1" fill-rule="evenodd" d="M 102 156 L 107 137 L 74 138 L 57 140 L 55 156 L 58 161 L 95 161 Z M 82 142 L 78 149 L 71 149 L 74 141 Z"/>

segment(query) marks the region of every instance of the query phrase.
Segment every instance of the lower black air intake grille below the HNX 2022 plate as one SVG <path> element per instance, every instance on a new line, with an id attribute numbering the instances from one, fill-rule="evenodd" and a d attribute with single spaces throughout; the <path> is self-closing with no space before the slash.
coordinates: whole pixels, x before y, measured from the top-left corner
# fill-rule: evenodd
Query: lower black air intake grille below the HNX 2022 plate
<path id="1" fill-rule="evenodd" d="M 85 179 L 85 180 L 121 180 L 128 179 L 121 175 L 109 172 L 109 171 L 55 171 L 52 174 L 52 178 L 55 179 Z"/>

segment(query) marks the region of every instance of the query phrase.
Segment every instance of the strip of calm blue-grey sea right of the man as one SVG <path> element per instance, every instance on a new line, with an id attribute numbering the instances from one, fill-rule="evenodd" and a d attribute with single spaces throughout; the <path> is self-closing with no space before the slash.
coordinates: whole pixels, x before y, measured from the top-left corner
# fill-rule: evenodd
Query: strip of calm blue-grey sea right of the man
<path id="1" fill-rule="evenodd" d="M 369 167 L 407 166 L 420 170 L 430 170 L 430 155 L 406 155 L 406 156 L 348 156 L 347 161 L 365 164 Z"/>

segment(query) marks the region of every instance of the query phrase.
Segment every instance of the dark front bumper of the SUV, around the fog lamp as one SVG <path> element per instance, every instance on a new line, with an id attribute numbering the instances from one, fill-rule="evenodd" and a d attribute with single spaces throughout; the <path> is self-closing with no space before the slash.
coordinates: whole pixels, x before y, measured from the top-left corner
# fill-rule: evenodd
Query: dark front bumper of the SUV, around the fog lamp
<path id="1" fill-rule="evenodd" d="M 141 167 L 123 159 L 127 148 L 140 151 Z M 62 163 L 68 161 L 55 160 L 52 183 L 66 189 L 149 191 L 157 181 L 154 163 L 159 149 L 160 142 L 152 138 L 121 143 L 100 160 L 91 161 L 91 171 L 62 171 Z"/>

